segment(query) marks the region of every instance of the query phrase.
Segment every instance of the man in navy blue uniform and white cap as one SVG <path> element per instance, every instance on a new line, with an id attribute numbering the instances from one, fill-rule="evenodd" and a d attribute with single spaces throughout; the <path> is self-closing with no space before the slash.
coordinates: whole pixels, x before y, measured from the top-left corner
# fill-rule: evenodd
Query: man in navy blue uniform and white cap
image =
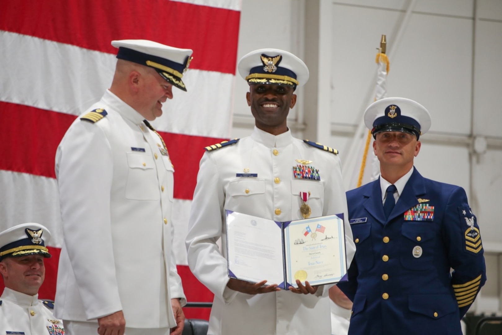
<path id="1" fill-rule="evenodd" d="M 486 281 L 483 247 L 464 189 L 413 166 L 429 111 L 390 97 L 373 102 L 364 123 L 381 175 L 347 192 L 357 251 L 338 287 L 353 301 L 348 333 L 461 335 L 460 319 Z"/>

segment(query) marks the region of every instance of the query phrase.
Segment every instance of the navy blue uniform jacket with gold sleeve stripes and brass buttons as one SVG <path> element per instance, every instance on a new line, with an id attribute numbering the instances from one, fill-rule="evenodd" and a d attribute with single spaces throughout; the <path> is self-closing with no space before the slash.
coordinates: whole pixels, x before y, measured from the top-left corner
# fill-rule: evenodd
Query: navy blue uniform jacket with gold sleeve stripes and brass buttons
<path id="1" fill-rule="evenodd" d="M 338 286 L 354 303 L 349 334 L 461 335 L 460 319 L 486 280 L 463 188 L 415 169 L 389 219 L 380 180 L 348 191 L 347 203 L 357 250 Z"/>

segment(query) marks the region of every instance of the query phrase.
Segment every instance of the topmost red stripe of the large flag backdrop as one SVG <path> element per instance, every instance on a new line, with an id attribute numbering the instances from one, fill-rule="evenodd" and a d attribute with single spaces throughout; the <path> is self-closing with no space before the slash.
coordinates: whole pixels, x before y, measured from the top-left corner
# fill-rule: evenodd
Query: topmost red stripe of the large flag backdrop
<path id="1" fill-rule="evenodd" d="M 191 68 L 235 74 L 240 12 L 168 0 L 2 2 L 0 30 L 116 53 L 112 40 L 193 49 Z"/>

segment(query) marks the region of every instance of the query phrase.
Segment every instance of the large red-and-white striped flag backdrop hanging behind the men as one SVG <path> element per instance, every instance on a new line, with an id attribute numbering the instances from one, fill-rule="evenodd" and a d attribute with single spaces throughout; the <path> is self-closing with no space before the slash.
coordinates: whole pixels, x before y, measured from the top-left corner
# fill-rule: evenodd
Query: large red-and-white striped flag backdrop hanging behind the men
<path id="1" fill-rule="evenodd" d="M 110 42 L 148 39 L 194 51 L 188 92 L 173 88 L 153 126 L 175 168 L 174 248 L 187 300 L 212 301 L 188 269 L 184 240 L 203 148 L 230 135 L 239 18 L 240 0 L 0 0 L 0 231 L 25 222 L 51 231 L 41 298 L 54 298 L 63 241 L 56 148 L 110 87 Z"/>

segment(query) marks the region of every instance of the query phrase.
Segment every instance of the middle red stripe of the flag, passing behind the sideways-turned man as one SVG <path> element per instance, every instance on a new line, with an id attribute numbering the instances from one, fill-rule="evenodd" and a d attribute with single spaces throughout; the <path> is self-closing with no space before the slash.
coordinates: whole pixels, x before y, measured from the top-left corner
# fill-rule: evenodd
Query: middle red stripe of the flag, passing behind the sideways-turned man
<path id="1" fill-rule="evenodd" d="M 56 149 L 74 115 L 0 101 L 0 170 L 55 178 Z M 204 147 L 223 139 L 159 132 L 174 164 L 174 197 L 191 200 Z"/>

